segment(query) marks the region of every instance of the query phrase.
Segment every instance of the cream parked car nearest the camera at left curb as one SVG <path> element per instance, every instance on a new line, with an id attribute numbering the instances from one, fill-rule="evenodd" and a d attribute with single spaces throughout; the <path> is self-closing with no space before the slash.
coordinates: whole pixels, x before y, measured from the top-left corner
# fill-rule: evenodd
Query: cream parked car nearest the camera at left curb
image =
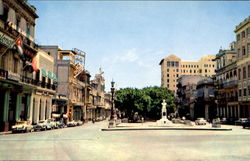
<path id="1" fill-rule="evenodd" d="M 12 133 L 17 132 L 33 132 L 34 128 L 28 124 L 27 121 L 17 121 L 14 126 L 11 127 Z"/>

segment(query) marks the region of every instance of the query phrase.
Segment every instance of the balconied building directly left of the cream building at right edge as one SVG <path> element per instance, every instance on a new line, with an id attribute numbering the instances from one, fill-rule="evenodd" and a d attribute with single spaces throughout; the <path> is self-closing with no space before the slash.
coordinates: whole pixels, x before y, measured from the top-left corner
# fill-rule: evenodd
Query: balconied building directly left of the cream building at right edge
<path id="1" fill-rule="evenodd" d="M 215 81 L 217 116 L 220 118 L 240 117 L 236 56 L 235 42 L 233 42 L 230 49 L 219 50 L 214 59 L 217 63 Z"/>

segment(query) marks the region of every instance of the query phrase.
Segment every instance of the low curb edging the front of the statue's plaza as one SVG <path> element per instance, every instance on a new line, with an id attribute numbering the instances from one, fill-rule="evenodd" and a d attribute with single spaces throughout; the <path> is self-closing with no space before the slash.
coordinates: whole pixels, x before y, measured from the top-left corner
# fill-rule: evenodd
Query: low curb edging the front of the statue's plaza
<path id="1" fill-rule="evenodd" d="M 232 131 L 231 128 L 105 128 L 101 131 L 133 131 L 133 130 L 198 130 L 198 131 Z"/>

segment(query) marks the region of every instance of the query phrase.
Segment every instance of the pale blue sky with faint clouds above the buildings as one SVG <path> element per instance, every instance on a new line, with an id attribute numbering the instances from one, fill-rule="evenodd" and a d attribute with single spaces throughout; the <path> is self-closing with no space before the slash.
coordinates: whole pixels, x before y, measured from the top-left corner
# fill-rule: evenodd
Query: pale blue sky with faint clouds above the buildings
<path id="1" fill-rule="evenodd" d="M 235 40 L 236 25 L 250 16 L 241 1 L 29 0 L 37 9 L 36 42 L 86 53 L 86 69 L 104 71 L 106 91 L 160 86 L 159 62 L 215 55 Z"/>

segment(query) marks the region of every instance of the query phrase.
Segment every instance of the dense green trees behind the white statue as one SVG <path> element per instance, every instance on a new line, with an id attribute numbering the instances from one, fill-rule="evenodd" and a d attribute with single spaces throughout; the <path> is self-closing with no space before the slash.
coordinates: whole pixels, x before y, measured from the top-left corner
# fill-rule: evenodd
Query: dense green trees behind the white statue
<path id="1" fill-rule="evenodd" d="M 133 118 L 137 112 L 149 119 L 159 119 L 163 99 L 166 100 L 169 111 L 173 112 L 175 109 L 173 93 L 166 88 L 156 86 L 143 89 L 120 89 L 116 92 L 115 105 L 129 118 Z"/>

